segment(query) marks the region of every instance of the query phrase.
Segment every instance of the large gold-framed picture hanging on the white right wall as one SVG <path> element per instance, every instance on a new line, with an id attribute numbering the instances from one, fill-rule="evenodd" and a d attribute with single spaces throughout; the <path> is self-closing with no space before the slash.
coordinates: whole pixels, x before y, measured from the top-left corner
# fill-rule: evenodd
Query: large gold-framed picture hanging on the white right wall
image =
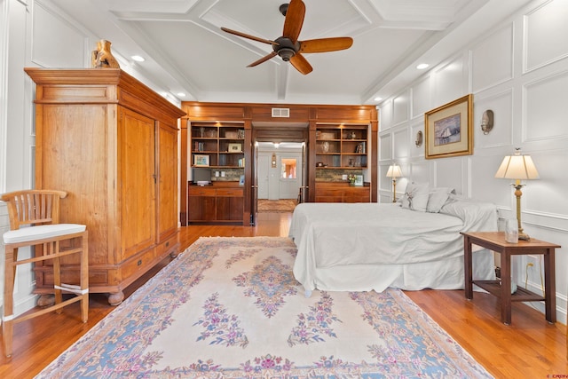
<path id="1" fill-rule="evenodd" d="M 473 95 L 424 114 L 426 159 L 473 154 Z"/>

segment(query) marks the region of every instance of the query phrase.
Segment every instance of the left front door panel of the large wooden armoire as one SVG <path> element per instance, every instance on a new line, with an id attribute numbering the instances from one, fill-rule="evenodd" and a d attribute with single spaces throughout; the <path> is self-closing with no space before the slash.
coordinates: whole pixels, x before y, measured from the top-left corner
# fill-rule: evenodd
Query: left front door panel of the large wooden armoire
<path id="1" fill-rule="evenodd" d="M 156 241 L 155 126 L 151 118 L 125 107 L 118 110 L 122 261 Z"/>

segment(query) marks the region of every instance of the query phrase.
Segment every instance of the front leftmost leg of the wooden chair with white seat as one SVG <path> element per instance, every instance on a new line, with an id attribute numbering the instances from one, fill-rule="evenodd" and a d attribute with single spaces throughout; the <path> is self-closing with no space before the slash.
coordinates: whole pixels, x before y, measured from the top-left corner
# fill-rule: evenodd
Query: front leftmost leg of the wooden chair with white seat
<path id="1" fill-rule="evenodd" d="M 12 338 L 13 338 L 13 290 L 18 249 L 12 249 L 9 245 L 5 247 L 4 261 L 4 312 L 2 318 L 2 337 L 4 339 L 4 354 L 12 357 Z"/>

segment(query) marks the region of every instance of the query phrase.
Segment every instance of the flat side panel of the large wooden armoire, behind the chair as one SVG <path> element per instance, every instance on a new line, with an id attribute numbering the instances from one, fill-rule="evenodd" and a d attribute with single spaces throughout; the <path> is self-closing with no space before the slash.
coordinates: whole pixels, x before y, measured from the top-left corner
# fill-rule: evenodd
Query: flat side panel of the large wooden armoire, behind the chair
<path id="1" fill-rule="evenodd" d="M 60 219 L 87 225 L 89 264 L 106 263 L 113 233 L 108 223 L 116 221 L 106 212 L 108 107 L 46 104 L 42 109 L 36 117 L 36 187 L 67 191 Z"/>

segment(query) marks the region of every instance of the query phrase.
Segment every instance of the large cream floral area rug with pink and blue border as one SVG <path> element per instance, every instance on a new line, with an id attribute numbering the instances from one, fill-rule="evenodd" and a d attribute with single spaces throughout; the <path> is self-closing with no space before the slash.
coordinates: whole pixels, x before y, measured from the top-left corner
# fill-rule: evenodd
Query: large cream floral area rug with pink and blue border
<path id="1" fill-rule="evenodd" d="M 288 238 L 201 238 L 38 378 L 491 377 L 402 291 L 314 291 Z"/>

